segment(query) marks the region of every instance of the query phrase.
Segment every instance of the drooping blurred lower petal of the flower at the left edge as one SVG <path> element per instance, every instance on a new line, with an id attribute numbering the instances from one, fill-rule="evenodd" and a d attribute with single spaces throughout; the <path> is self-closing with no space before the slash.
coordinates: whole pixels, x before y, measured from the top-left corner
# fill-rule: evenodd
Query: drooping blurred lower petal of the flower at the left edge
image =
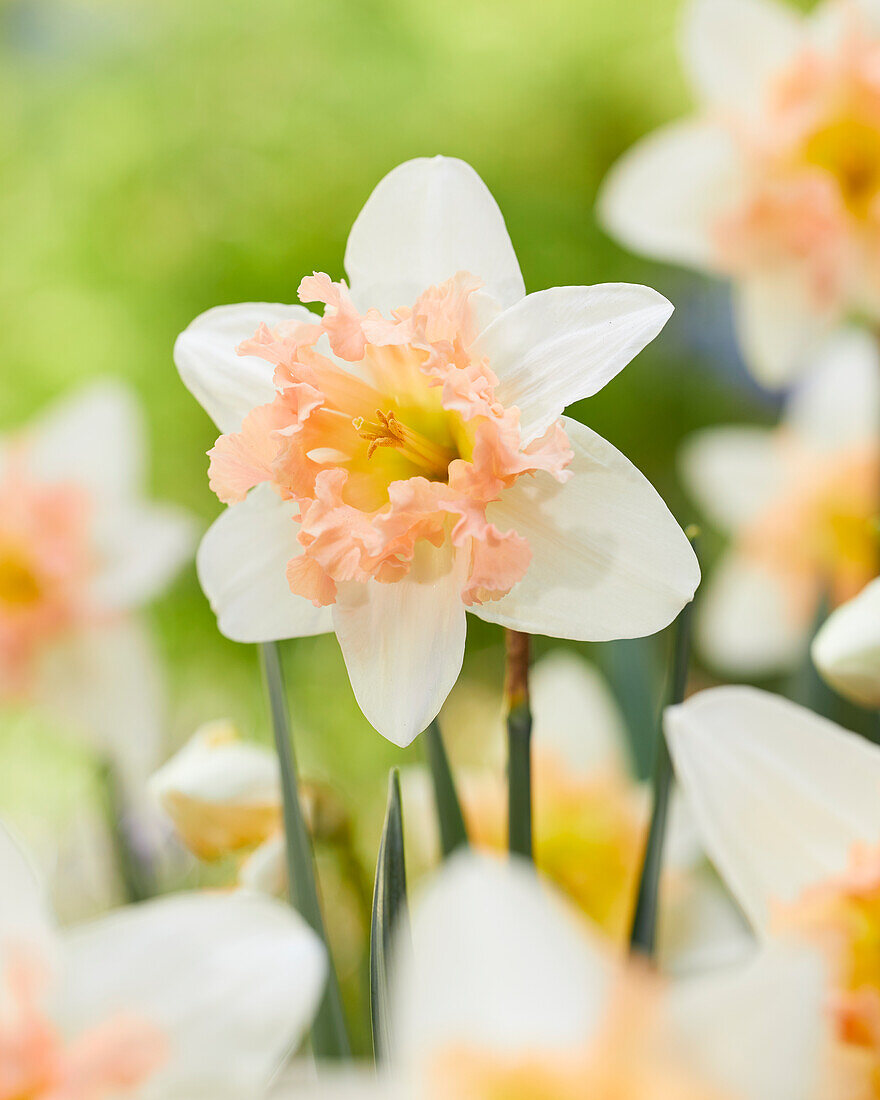
<path id="1" fill-rule="evenodd" d="M 36 696 L 112 762 L 128 798 L 144 807 L 165 717 L 162 662 L 146 626 L 120 619 L 53 647 L 40 666 Z"/>

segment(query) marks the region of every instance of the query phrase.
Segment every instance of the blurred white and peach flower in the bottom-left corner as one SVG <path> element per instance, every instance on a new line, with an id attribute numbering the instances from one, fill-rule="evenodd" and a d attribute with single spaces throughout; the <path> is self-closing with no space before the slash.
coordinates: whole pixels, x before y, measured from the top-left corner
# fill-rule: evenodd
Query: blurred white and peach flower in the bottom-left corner
<path id="1" fill-rule="evenodd" d="M 56 931 L 0 829 L 0 1097 L 254 1100 L 323 978 L 311 930 L 258 895 L 178 894 Z"/>

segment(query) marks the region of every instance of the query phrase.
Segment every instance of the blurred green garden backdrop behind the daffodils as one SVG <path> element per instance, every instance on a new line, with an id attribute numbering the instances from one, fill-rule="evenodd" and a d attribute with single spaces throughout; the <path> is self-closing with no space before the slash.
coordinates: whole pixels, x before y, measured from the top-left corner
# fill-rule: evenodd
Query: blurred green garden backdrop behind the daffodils
<path id="1" fill-rule="evenodd" d="M 312 270 L 342 276 L 349 227 L 373 186 L 399 162 L 441 152 L 486 180 L 530 290 L 626 279 L 675 302 L 661 339 L 575 415 L 686 522 L 674 475 L 681 438 L 713 421 L 770 418 L 773 406 L 737 361 L 724 289 L 624 253 L 593 212 L 615 158 L 688 107 L 680 8 L 0 3 L 0 430 L 86 378 L 122 377 L 146 408 L 155 495 L 207 527 L 220 510 L 206 477 L 215 432 L 178 381 L 176 334 L 221 302 L 294 300 Z M 193 568 L 152 615 L 168 668 L 168 749 L 226 715 L 268 738 L 256 653 L 218 634 Z M 501 641 L 472 620 L 465 680 L 499 690 Z M 642 732 L 642 770 L 658 695 L 638 673 L 659 664 L 661 647 L 596 654 Z M 292 642 L 285 656 L 302 770 L 364 810 L 360 843 L 372 858 L 386 769 L 419 759 L 420 747 L 400 752 L 367 726 L 332 636 Z M 452 752 L 466 759 L 466 732 L 453 727 Z M 69 777 L 74 765 L 57 752 L 52 771 L 35 772 L 45 743 L 32 748 L 30 725 L 0 733 L 0 803 Z M 86 790 L 68 784 L 68 796 Z"/>

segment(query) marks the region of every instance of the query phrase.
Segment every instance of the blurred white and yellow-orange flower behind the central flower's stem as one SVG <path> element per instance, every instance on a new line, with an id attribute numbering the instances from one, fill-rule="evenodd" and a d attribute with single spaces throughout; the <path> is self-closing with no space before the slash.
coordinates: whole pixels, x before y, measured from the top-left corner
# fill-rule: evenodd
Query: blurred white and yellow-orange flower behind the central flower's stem
<path id="1" fill-rule="evenodd" d="M 554 650 L 536 661 L 529 691 L 535 862 L 596 927 L 626 943 L 650 805 L 645 784 L 634 777 L 624 717 L 598 670 L 572 650 Z M 460 714 L 462 707 L 454 710 Z M 476 743 L 481 736 L 484 741 L 485 763 L 458 768 L 455 780 L 469 839 L 495 851 L 507 848 L 501 712 L 498 698 L 488 736 L 485 725 L 454 725 L 459 743 Z M 482 716 L 479 721 L 485 722 Z M 408 879 L 414 882 L 439 864 L 437 814 L 426 768 L 404 769 L 400 787 Z M 712 877 L 702 872 L 702 849 L 678 798 L 669 826 L 660 905 L 664 964 L 690 969 L 692 960 L 710 965 L 747 949 L 741 920 Z"/>

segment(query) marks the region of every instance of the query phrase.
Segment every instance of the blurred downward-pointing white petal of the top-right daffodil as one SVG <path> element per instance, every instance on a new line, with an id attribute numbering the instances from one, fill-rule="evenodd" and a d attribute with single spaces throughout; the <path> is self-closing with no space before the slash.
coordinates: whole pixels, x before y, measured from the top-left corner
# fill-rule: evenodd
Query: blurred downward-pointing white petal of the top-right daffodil
<path id="1" fill-rule="evenodd" d="M 734 320 L 755 377 L 777 388 L 810 362 L 833 318 L 812 301 L 798 273 L 787 270 L 739 283 L 734 290 Z"/>

